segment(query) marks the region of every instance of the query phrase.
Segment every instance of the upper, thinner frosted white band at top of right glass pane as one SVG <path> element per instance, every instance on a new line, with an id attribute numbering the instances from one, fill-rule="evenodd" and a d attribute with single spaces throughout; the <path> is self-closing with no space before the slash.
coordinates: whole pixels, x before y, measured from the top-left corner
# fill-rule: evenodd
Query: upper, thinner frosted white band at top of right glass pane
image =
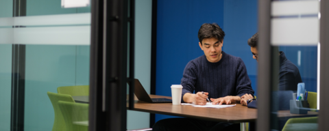
<path id="1" fill-rule="evenodd" d="M 317 14 L 319 1 L 273 1 L 272 16 Z"/>

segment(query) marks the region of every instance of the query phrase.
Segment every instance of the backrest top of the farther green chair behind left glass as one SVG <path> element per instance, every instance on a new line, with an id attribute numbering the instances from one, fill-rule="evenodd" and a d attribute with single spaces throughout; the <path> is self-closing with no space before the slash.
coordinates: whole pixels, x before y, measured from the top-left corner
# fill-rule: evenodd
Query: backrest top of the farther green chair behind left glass
<path id="1" fill-rule="evenodd" d="M 58 87 L 57 91 L 71 96 L 89 96 L 89 85 Z"/>

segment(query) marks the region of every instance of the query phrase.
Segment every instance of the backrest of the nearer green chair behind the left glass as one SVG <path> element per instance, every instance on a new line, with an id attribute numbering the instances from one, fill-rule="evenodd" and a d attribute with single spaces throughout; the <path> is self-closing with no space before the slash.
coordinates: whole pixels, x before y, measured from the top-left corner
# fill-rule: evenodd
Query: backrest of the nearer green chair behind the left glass
<path id="1" fill-rule="evenodd" d="M 63 131 L 65 130 L 65 122 L 60 111 L 60 107 L 58 106 L 58 101 L 65 101 L 65 102 L 74 102 L 72 96 L 60 93 L 52 93 L 47 92 L 51 104 L 53 104 L 53 112 L 55 113 L 55 119 L 53 121 L 53 130 L 52 131 Z"/>

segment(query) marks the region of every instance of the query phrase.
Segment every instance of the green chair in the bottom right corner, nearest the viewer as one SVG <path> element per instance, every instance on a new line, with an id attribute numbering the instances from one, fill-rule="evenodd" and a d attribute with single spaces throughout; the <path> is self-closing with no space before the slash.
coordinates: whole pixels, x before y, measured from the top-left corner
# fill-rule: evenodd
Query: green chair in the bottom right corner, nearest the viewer
<path id="1" fill-rule="evenodd" d="M 317 130 L 317 117 L 288 119 L 282 131 L 310 131 Z"/>

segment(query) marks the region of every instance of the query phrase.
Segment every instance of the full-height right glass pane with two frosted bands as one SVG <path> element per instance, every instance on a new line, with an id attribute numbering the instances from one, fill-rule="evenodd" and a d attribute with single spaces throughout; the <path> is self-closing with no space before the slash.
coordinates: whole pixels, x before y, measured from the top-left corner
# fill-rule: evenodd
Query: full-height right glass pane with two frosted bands
<path id="1" fill-rule="evenodd" d="M 271 16 L 271 130 L 317 130 L 319 1 L 272 1 Z"/>

